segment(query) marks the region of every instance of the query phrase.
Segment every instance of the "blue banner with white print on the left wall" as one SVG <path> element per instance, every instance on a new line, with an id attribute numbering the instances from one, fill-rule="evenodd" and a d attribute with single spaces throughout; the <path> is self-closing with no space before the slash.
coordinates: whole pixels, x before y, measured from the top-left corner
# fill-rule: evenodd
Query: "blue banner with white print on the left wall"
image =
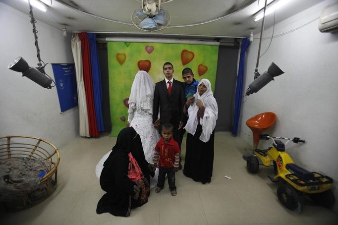
<path id="1" fill-rule="evenodd" d="M 61 112 L 78 106 L 74 63 L 52 63 Z"/>

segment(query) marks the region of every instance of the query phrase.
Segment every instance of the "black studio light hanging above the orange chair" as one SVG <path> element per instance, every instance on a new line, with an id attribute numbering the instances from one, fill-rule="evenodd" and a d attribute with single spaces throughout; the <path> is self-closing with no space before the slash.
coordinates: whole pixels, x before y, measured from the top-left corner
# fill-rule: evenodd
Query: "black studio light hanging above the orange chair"
<path id="1" fill-rule="evenodd" d="M 252 81 L 251 84 L 249 84 L 249 88 L 246 89 L 246 95 L 258 92 L 270 81 L 274 80 L 274 77 L 279 76 L 283 73 L 284 71 L 282 71 L 282 69 L 280 69 L 280 67 L 278 67 L 274 62 L 271 63 L 271 65 L 268 68 L 268 71 L 265 71 L 262 75 L 258 71 L 256 71 L 255 77 L 257 79 L 254 79 L 254 81 Z"/>

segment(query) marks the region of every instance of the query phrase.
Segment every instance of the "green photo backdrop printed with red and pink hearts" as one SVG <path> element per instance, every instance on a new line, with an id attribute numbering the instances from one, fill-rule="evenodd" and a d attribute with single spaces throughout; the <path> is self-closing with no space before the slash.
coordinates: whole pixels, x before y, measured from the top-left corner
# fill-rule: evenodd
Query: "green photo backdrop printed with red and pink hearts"
<path id="1" fill-rule="evenodd" d="M 166 61 L 174 67 L 173 77 L 182 81 L 182 70 L 192 69 L 196 80 L 209 79 L 214 91 L 218 46 L 108 42 L 108 70 L 112 137 L 126 126 L 128 119 L 128 98 L 135 74 L 147 71 L 154 83 L 165 78 L 163 64 Z"/>

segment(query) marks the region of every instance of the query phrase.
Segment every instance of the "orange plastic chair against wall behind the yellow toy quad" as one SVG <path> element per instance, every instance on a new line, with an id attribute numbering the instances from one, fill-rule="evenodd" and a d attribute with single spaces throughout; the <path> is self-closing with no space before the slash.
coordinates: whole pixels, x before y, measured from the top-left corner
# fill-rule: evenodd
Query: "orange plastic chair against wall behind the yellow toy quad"
<path id="1" fill-rule="evenodd" d="M 274 112 L 262 112 L 246 120 L 245 124 L 252 130 L 254 149 L 257 149 L 259 135 L 275 125 L 277 115 Z"/>

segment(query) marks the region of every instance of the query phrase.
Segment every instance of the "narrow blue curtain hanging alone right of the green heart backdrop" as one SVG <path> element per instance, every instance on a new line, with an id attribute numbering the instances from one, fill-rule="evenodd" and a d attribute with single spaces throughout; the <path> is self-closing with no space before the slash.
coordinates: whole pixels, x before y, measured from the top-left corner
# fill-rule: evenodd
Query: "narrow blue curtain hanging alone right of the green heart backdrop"
<path id="1" fill-rule="evenodd" d="M 238 77 L 237 77 L 237 86 L 236 86 L 236 94 L 235 94 L 235 110 L 234 110 L 234 115 L 233 115 L 232 134 L 234 135 L 237 135 L 237 131 L 238 131 L 238 121 L 239 121 L 240 107 L 242 103 L 242 93 L 243 93 L 245 52 L 248 49 L 249 45 L 250 45 L 250 41 L 246 38 L 243 38 L 242 45 L 240 47 Z"/>

